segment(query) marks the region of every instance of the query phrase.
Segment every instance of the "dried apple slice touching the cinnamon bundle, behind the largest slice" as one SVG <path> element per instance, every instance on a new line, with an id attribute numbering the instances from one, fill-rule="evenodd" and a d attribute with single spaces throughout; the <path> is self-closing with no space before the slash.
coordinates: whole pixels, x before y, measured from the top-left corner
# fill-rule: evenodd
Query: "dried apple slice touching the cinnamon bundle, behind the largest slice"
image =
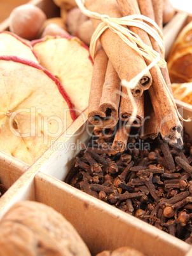
<path id="1" fill-rule="evenodd" d="M 88 107 L 93 63 L 87 46 L 74 37 L 46 37 L 32 41 L 41 66 L 64 85 L 79 111 Z"/>

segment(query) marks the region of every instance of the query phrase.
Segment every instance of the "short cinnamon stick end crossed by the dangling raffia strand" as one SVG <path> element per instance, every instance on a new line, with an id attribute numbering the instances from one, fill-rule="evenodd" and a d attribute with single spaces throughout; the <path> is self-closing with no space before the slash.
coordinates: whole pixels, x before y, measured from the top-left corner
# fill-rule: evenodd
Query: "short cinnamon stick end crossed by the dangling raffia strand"
<path id="1" fill-rule="evenodd" d="M 127 93 L 125 87 L 122 88 L 123 93 Z M 135 103 L 137 104 L 137 116 L 132 124 L 134 127 L 141 127 L 144 124 L 144 96 L 135 97 Z M 132 115 L 134 106 L 132 105 L 128 97 L 121 96 L 120 103 L 120 119 L 124 122 L 128 122 L 129 118 Z"/>

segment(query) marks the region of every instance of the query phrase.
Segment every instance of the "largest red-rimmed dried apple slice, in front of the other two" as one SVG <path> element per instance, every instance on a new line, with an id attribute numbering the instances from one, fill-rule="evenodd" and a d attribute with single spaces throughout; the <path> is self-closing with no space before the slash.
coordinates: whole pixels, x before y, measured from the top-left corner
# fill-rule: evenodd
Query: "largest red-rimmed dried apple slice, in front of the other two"
<path id="1" fill-rule="evenodd" d="M 0 150 L 32 164 L 76 118 L 71 99 L 45 68 L 0 56 Z"/>

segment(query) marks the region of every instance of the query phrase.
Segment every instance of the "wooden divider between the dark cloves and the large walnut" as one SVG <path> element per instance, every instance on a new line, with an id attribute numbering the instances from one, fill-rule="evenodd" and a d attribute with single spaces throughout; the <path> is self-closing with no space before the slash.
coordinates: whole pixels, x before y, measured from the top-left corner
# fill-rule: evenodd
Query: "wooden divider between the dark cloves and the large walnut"
<path id="1" fill-rule="evenodd" d="M 145 255 L 182 256 L 191 247 L 180 239 L 41 172 L 35 176 L 35 197 L 36 201 L 48 204 L 62 213 L 74 225 L 92 255 L 102 250 L 131 246 Z"/>

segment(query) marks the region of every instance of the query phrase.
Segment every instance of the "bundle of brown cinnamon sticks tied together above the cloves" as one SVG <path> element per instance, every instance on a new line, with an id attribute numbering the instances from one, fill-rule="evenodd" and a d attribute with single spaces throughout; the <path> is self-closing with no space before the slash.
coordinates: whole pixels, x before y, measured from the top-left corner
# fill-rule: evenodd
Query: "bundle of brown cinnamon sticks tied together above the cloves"
<path id="1" fill-rule="evenodd" d="M 85 0 L 85 7 L 89 11 L 114 18 L 144 15 L 154 20 L 160 29 L 163 27 L 163 1 L 160 0 Z M 96 29 L 101 20 L 91 20 Z M 128 29 L 137 34 L 143 43 L 161 53 L 158 43 L 146 31 L 134 26 Z M 162 54 L 161 57 L 164 58 Z M 115 135 L 113 147 L 117 152 L 125 150 L 132 127 L 139 129 L 141 139 L 154 139 L 161 134 L 171 145 L 178 141 L 182 144 L 182 125 L 163 83 L 165 80 L 172 93 L 167 68 L 154 66 L 139 80 L 132 90 L 137 115 L 134 122 L 127 125 L 134 105 L 127 88 L 121 88 L 121 80 L 130 82 L 149 64 L 149 60 L 110 29 L 101 34 L 95 53 L 88 118 L 95 127 L 95 135 L 100 138 Z"/>

